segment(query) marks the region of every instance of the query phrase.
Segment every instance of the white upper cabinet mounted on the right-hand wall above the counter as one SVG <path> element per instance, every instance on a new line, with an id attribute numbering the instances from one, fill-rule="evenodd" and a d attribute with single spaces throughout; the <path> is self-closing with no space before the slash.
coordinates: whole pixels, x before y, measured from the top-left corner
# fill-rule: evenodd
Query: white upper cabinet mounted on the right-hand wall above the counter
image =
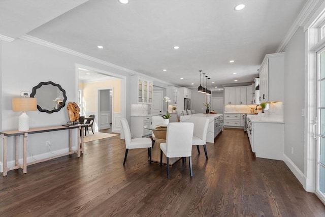
<path id="1" fill-rule="evenodd" d="M 284 53 L 267 54 L 259 69 L 259 102 L 284 101 Z"/>

